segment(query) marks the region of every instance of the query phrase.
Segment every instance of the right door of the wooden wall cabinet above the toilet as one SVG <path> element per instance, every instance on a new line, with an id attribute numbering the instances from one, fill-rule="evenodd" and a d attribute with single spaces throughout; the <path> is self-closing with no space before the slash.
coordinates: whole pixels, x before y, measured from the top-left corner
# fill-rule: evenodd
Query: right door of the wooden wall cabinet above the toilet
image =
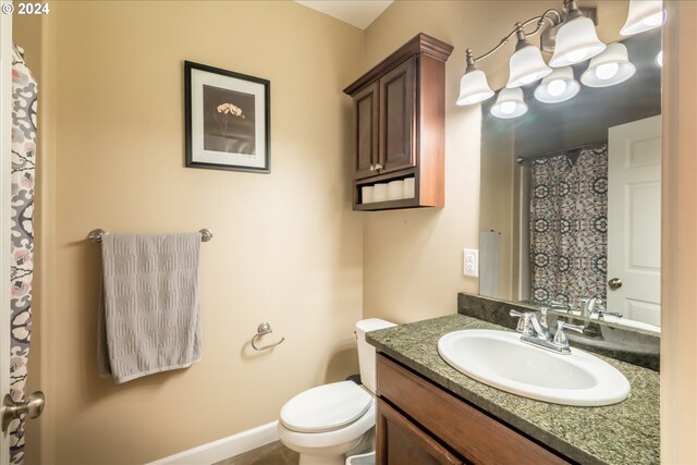
<path id="1" fill-rule="evenodd" d="M 416 57 L 380 78 L 380 172 L 414 167 Z"/>

